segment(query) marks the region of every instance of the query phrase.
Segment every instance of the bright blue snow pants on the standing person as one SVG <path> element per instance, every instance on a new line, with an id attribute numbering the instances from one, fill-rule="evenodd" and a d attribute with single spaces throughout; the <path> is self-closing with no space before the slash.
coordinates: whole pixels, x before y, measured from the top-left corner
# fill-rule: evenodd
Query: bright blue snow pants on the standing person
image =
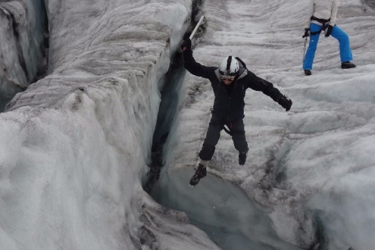
<path id="1" fill-rule="evenodd" d="M 318 24 L 310 24 L 310 32 L 316 32 L 320 31 L 322 28 L 321 25 Z M 324 27 L 325 29 L 326 27 Z M 311 70 L 313 69 L 313 61 L 315 58 L 315 51 L 317 51 L 317 44 L 319 42 L 319 35 L 320 33 L 316 35 L 310 36 L 310 42 L 308 44 L 308 49 L 306 52 L 305 60 L 303 60 L 303 69 Z M 336 38 L 339 42 L 339 48 L 340 48 L 340 59 L 341 63 L 348 62 L 350 60 L 353 60 L 353 56 L 351 55 L 351 49 L 350 49 L 350 43 L 349 43 L 349 36 L 347 33 L 342 31 L 341 28 L 338 26 L 333 26 L 331 35 L 333 38 Z"/>

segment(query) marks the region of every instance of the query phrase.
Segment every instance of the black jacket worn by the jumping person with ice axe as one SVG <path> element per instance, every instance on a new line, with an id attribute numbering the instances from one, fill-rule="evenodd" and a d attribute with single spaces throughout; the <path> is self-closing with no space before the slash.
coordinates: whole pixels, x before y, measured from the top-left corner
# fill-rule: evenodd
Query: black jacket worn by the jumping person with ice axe
<path id="1" fill-rule="evenodd" d="M 274 88 L 272 83 L 249 71 L 242 60 L 238 60 L 238 62 L 240 63 L 240 72 L 236 76 L 235 81 L 231 83 L 233 89 L 229 93 L 226 85 L 220 78 L 218 67 L 203 66 L 194 60 L 191 49 L 183 51 L 185 69 L 188 69 L 188 72 L 195 76 L 201 76 L 210 80 L 215 93 L 213 115 L 217 115 L 223 122 L 234 122 L 244 117 L 244 97 L 247 88 L 261 91 L 274 101 L 278 101 L 283 97 L 283 94 Z"/>

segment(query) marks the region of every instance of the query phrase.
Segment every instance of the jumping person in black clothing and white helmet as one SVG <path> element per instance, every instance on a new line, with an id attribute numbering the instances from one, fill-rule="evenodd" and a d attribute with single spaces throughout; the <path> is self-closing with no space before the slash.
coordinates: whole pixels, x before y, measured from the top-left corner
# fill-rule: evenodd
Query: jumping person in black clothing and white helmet
<path id="1" fill-rule="evenodd" d="M 206 165 L 213 157 L 215 146 L 220 138 L 222 129 L 232 136 L 235 149 L 238 150 L 238 163 L 244 165 L 247 158 L 247 140 L 244 131 L 244 97 L 247 88 L 261 91 L 280 104 L 285 110 L 290 110 L 292 101 L 281 94 L 272 83 L 250 72 L 240 58 L 226 56 L 219 67 L 206 67 L 194 60 L 192 42 L 189 38 L 183 40 L 183 65 L 188 72 L 195 76 L 208 78 L 215 94 L 212 117 L 208 125 L 206 139 L 199 152 L 198 169 L 190 180 L 190 185 L 197 185 L 206 176 Z M 228 128 L 224 128 L 226 125 Z"/>

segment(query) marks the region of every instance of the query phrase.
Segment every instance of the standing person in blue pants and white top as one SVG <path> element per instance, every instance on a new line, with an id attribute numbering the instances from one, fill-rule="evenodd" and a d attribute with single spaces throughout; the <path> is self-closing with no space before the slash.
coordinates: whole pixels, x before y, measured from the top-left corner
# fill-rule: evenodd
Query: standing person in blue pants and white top
<path id="1" fill-rule="evenodd" d="M 351 54 L 349 36 L 335 24 L 337 12 L 338 0 L 311 0 L 310 13 L 312 15 L 306 23 L 305 34 L 302 37 L 306 38 L 310 35 L 310 42 L 303 60 L 303 70 L 306 76 L 311 75 L 315 51 L 317 51 L 319 35 L 322 31 L 326 31 L 324 35 L 326 38 L 331 35 L 338 40 L 340 44 L 341 68 L 350 69 L 356 67 L 350 62 L 353 60 L 353 56 Z"/>

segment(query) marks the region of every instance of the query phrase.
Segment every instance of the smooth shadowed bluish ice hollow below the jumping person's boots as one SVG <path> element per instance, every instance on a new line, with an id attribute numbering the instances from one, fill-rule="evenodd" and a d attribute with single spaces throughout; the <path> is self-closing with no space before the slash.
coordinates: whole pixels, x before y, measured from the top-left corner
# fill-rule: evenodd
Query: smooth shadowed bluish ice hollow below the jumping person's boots
<path id="1" fill-rule="evenodd" d="M 300 249 L 276 235 L 267 213 L 231 182 L 208 174 L 194 188 L 194 169 L 165 172 L 151 196 L 163 206 L 182 211 L 224 250 Z"/>

